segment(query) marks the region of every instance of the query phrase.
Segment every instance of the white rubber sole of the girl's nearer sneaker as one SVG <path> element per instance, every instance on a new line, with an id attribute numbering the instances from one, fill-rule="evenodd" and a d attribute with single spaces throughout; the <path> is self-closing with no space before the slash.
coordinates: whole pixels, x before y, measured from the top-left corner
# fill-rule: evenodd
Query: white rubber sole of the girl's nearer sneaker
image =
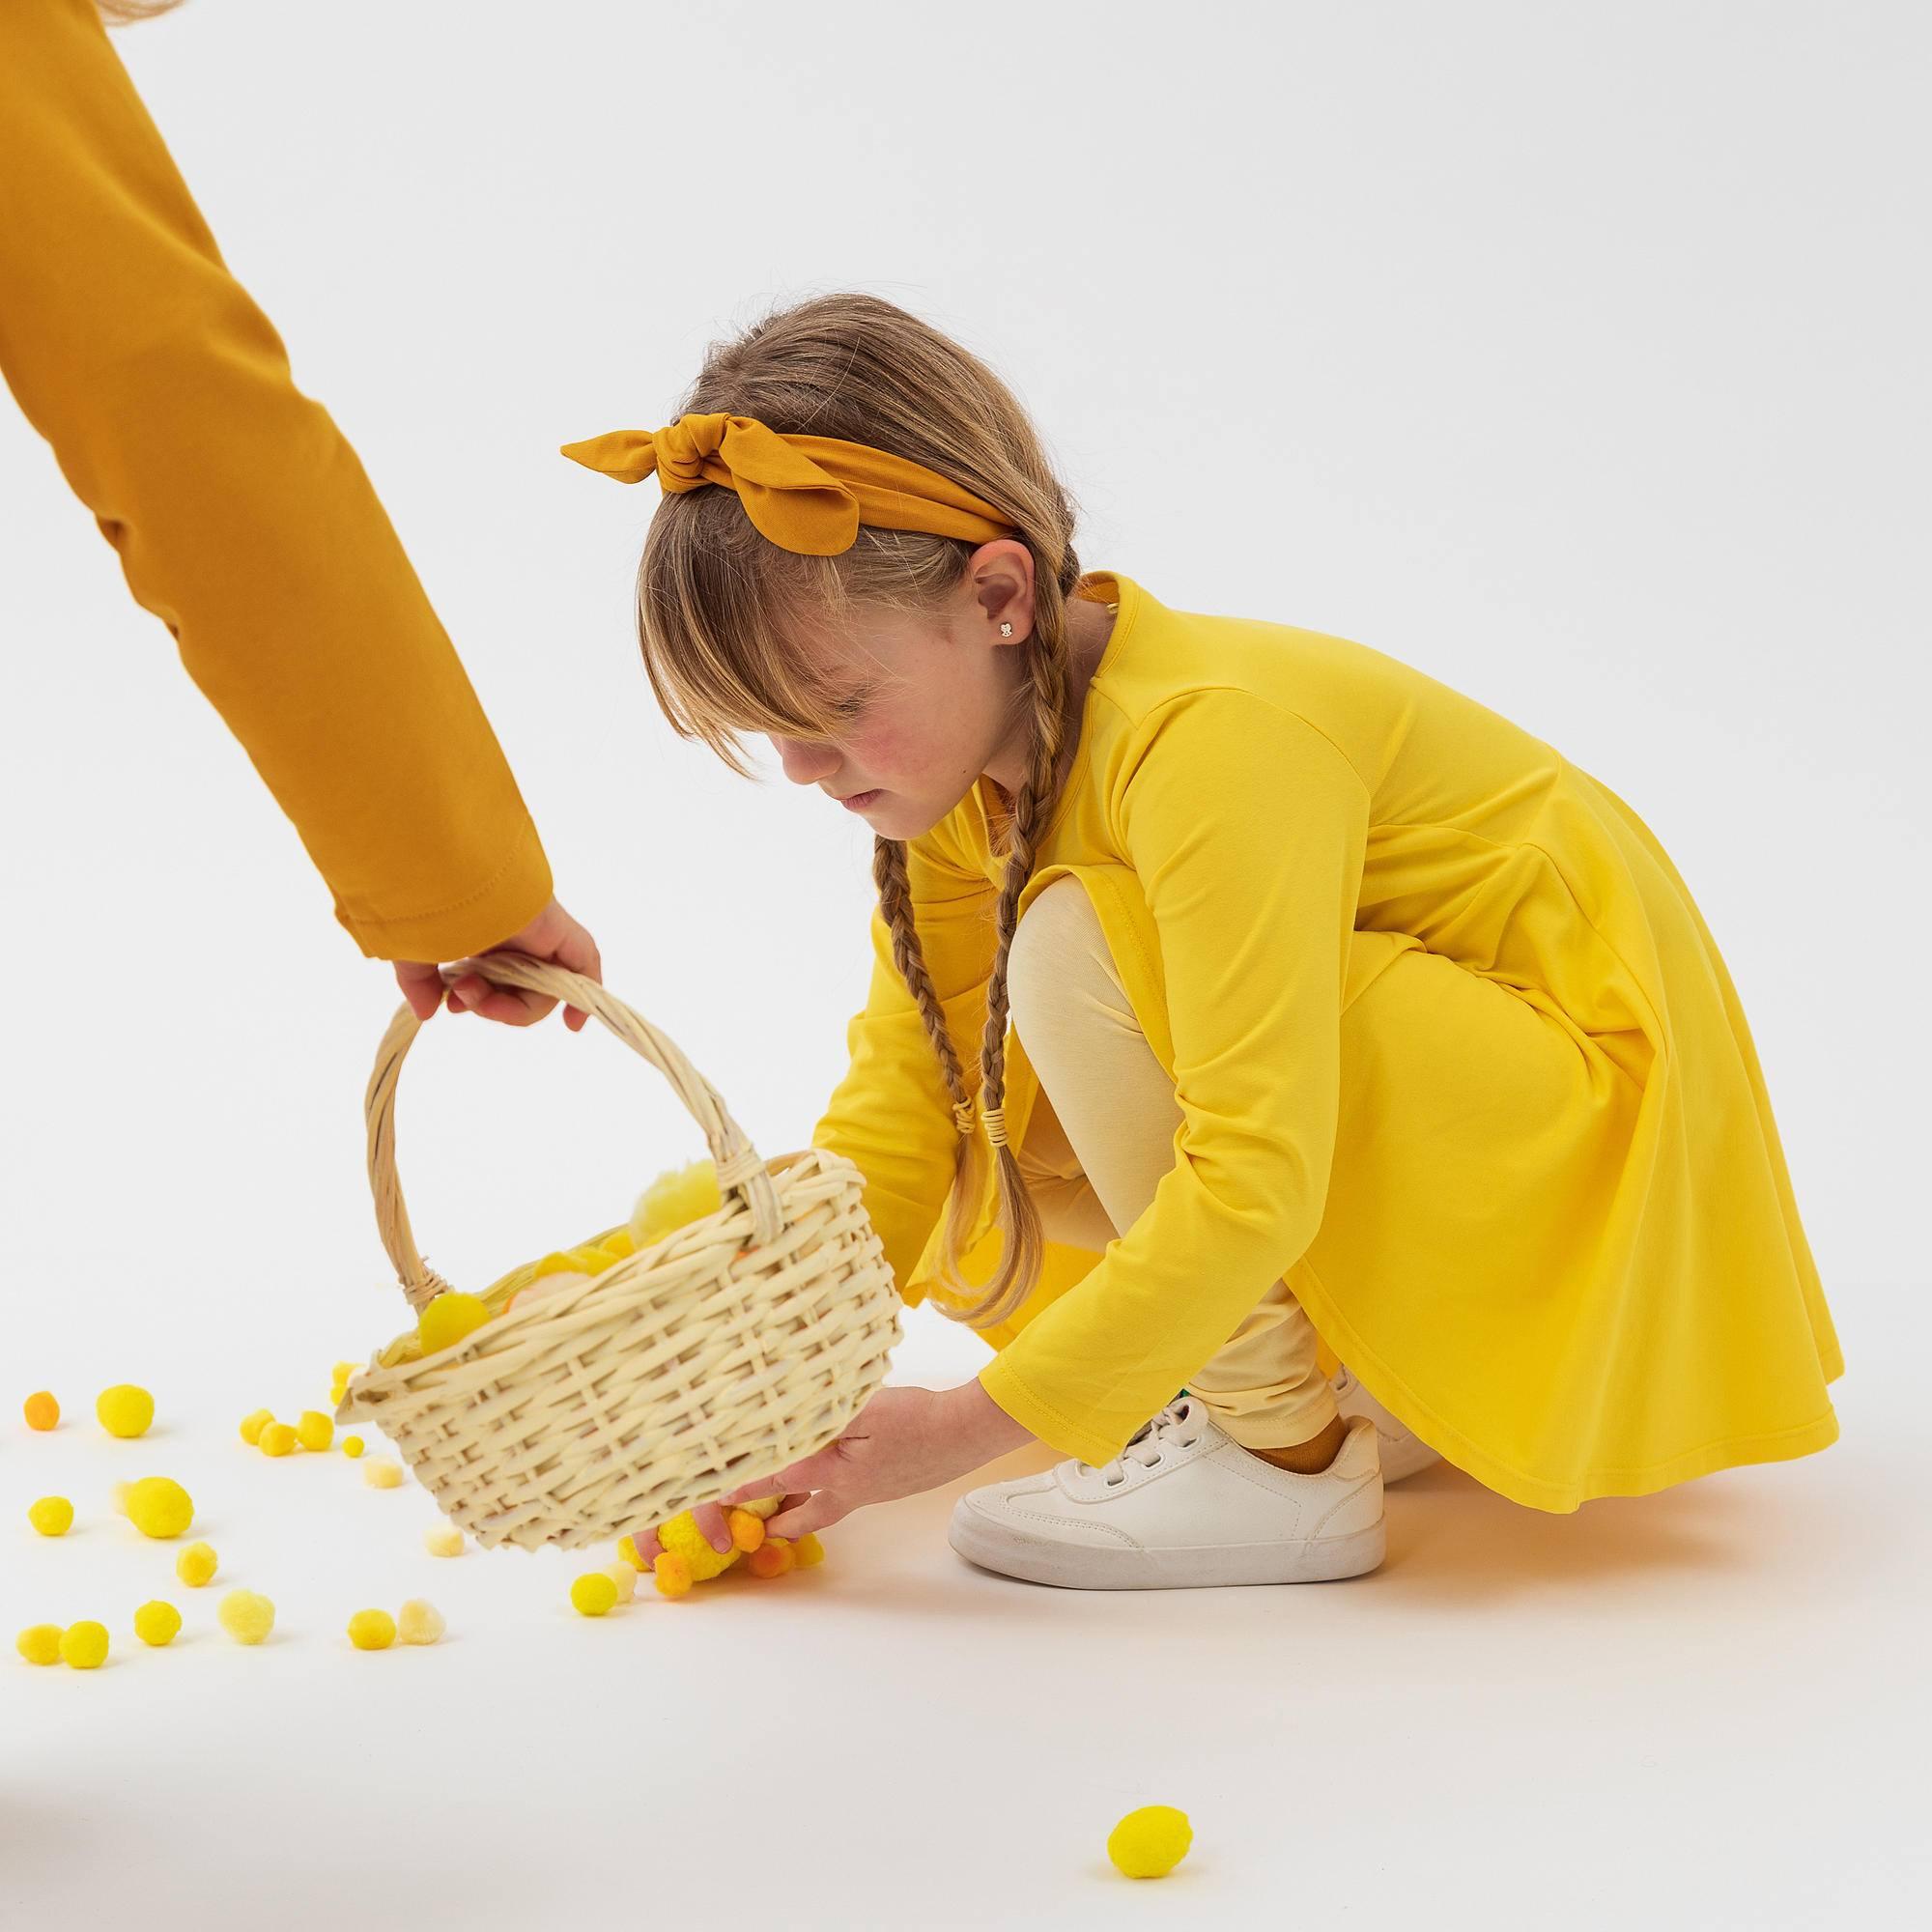
<path id="1" fill-rule="evenodd" d="M 1217 1590 L 1265 1582 L 1341 1582 L 1381 1567 L 1387 1522 L 1304 1544 L 1217 1544 L 1194 1549 L 1094 1549 L 987 1522 L 958 1503 L 947 1542 L 980 1569 L 1059 1590 Z"/>

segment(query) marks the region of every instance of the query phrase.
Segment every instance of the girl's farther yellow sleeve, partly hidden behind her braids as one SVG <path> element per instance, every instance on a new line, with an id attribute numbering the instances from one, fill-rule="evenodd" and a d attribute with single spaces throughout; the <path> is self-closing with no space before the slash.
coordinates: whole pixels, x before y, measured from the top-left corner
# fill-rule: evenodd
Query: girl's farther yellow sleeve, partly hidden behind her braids
<path id="1" fill-rule="evenodd" d="M 966 1092 L 978 1094 L 997 893 L 981 873 L 949 856 L 933 835 L 906 846 L 906 879 L 920 951 L 960 1057 Z M 842 1153 L 866 1177 L 866 1213 L 906 1294 L 952 1186 L 958 1128 L 939 1055 L 893 964 L 891 929 L 877 908 L 871 952 L 866 1009 L 846 1028 L 850 1065 L 811 1130 L 811 1144 Z"/>

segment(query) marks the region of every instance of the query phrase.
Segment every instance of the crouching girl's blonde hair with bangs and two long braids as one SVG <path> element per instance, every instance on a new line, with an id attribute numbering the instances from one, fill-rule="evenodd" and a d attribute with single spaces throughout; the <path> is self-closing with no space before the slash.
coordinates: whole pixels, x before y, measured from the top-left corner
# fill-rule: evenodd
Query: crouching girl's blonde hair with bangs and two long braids
<path id="1" fill-rule="evenodd" d="M 1005 1107 L 1007 954 L 1036 842 L 1053 813 L 1066 732 L 1066 603 L 1080 582 L 1072 498 L 1007 384 L 877 296 L 817 296 L 713 342 L 680 413 L 692 410 L 752 415 L 781 435 L 840 437 L 925 464 L 993 504 L 1032 551 L 1034 624 L 1018 645 L 1028 771 L 1007 821 L 980 1039 L 980 1105 Z M 800 649 L 802 632 L 837 626 L 850 607 L 929 611 L 958 585 L 976 549 L 862 524 L 850 551 L 800 556 L 761 537 L 728 489 L 668 495 L 638 566 L 638 638 L 659 707 L 680 736 L 701 738 L 740 775 L 750 775 L 740 732 L 833 738 L 837 697 Z M 966 1107 L 966 1074 L 920 951 L 904 844 L 875 840 L 871 871 L 893 960 L 918 1003 L 947 1095 L 954 1109 Z M 1043 1256 L 1039 1213 L 1012 1148 L 997 1148 L 993 1161 L 1001 1264 L 981 1293 L 960 1279 L 983 1184 L 980 1134 L 960 1134 L 941 1240 L 945 1294 L 935 1306 L 972 1327 L 1018 1310 Z"/>

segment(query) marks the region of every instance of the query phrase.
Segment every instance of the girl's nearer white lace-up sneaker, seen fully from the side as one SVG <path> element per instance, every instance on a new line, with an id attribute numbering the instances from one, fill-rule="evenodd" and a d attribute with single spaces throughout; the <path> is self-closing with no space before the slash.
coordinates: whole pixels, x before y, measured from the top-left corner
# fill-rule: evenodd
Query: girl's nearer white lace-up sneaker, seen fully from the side
<path id="1" fill-rule="evenodd" d="M 1065 1590 L 1360 1577 L 1385 1549 L 1376 1426 L 1352 1420 L 1335 1461 L 1300 1476 L 1182 1395 L 1099 1468 L 1068 1459 L 968 1490 L 947 1542 L 981 1569 Z"/>

